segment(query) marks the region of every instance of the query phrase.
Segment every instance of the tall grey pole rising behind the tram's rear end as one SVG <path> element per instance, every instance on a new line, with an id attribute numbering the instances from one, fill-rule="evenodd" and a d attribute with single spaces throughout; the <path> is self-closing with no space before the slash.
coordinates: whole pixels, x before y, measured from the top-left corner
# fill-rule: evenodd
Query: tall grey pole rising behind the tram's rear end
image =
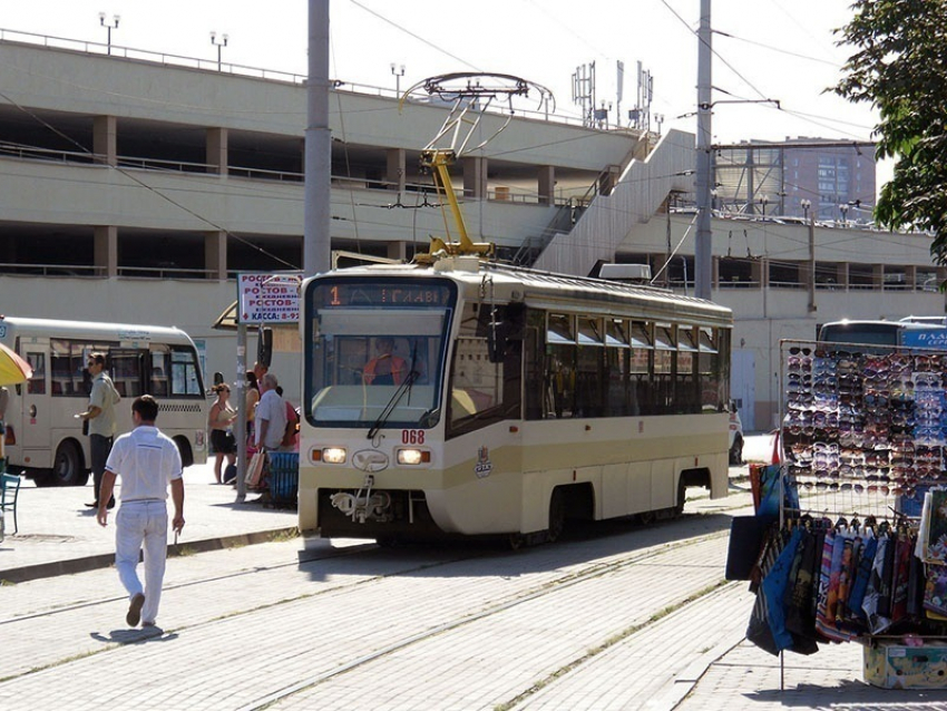
<path id="1" fill-rule="evenodd" d="M 694 249 L 694 295 L 711 298 L 711 0 L 701 0 L 697 29 L 697 236 Z"/>

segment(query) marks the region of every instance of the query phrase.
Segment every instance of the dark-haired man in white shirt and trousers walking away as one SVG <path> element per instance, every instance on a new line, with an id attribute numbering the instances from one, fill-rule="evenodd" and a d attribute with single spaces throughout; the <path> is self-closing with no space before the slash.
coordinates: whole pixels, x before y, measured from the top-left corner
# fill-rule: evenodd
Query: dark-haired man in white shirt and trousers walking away
<path id="1" fill-rule="evenodd" d="M 174 501 L 172 528 L 184 528 L 184 479 L 177 445 L 155 427 L 158 403 L 149 395 L 135 398 L 131 421 L 135 429 L 119 437 L 108 457 L 101 494 L 111 496 L 121 477 L 121 506 L 115 517 L 115 567 L 128 591 L 125 621 L 135 627 L 154 627 L 162 602 L 162 583 L 168 546 L 167 489 Z M 99 525 L 108 522 L 108 507 L 98 508 Z M 138 579 L 138 556 L 144 547 L 145 586 Z"/>

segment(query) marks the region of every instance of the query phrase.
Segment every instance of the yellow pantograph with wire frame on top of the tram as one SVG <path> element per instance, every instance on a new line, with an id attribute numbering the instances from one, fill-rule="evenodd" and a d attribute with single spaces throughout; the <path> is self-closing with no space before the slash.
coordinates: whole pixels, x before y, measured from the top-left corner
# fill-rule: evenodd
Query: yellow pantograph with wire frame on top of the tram
<path id="1" fill-rule="evenodd" d="M 428 96 L 436 96 L 451 105 L 440 130 L 421 150 L 421 167 L 430 169 L 438 194 L 443 195 L 450 206 L 453 223 L 457 226 L 458 242 L 453 243 L 450 240 L 450 223 L 447 213 L 445 213 L 447 241 L 431 236 L 430 252 L 416 255 L 416 261 L 430 263 L 436 260 L 438 254 L 492 256 L 496 252 L 496 245 L 471 242 L 467 235 L 463 215 L 460 212 L 448 168 L 457 163 L 458 158 L 486 146 L 509 125 L 515 113 L 515 98 L 528 97 L 533 91 L 538 94 L 537 106 L 541 107 L 544 103 L 548 103 L 553 98 L 553 92 L 541 85 L 512 75 L 465 71 L 439 75 L 419 81 L 404 91 L 399 106 L 403 105 L 413 92 L 420 91 Z M 470 145 L 473 134 L 480 127 L 480 119 L 495 101 L 506 104 L 506 121 L 477 145 Z"/>

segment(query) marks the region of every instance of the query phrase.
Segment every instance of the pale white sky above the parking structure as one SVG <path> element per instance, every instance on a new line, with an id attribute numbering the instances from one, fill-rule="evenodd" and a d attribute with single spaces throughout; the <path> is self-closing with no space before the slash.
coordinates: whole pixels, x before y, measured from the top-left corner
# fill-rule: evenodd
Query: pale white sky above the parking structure
<path id="1" fill-rule="evenodd" d="M 849 47 L 833 30 L 850 0 L 715 0 L 713 142 L 821 137 L 869 140 L 877 113 L 827 92 Z M 0 28 L 111 43 L 305 75 L 307 0 L 0 0 Z M 330 0 L 330 75 L 401 89 L 440 74 L 491 71 L 549 88 L 559 113 L 578 117 L 573 75 L 595 62 L 597 105 L 617 120 L 617 62 L 625 66 L 621 120 L 636 104 L 637 64 L 653 79 L 652 127 L 694 133 L 700 0 Z M 404 75 L 400 75 L 404 67 Z M 755 103 L 763 99 L 779 101 Z M 538 97 L 536 98 L 538 108 Z M 754 101 L 754 103 L 750 103 Z M 419 137 L 419 145 L 429 137 Z M 879 184 L 889 177 L 879 167 Z"/>

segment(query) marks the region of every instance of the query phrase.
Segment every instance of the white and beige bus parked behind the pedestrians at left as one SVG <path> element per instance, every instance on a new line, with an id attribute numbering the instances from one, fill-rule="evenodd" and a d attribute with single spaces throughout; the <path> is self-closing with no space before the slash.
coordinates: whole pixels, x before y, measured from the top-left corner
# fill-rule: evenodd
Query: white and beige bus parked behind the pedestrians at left
<path id="1" fill-rule="evenodd" d="M 149 393 L 159 405 L 159 426 L 174 439 L 182 464 L 207 460 L 206 395 L 197 350 L 176 328 L 0 316 L 0 342 L 33 369 L 30 380 L 8 388 L 6 456 L 38 486 L 81 486 L 89 477 L 89 438 L 82 420 L 95 351 L 123 403 L 118 432 L 131 430 L 131 401 Z"/>

